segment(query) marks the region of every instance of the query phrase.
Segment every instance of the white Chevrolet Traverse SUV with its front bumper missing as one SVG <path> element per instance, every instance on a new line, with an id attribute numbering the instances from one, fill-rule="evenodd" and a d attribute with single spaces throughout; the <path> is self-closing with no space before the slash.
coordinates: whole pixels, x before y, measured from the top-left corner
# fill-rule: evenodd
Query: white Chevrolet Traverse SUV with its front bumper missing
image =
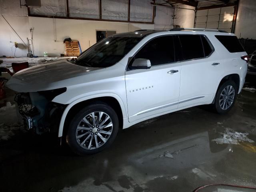
<path id="1" fill-rule="evenodd" d="M 179 28 L 105 38 L 77 59 L 22 70 L 8 81 L 24 124 L 58 132 L 79 155 L 110 146 L 118 129 L 192 106 L 228 112 L 248 56 L 234 34 Z"/>

